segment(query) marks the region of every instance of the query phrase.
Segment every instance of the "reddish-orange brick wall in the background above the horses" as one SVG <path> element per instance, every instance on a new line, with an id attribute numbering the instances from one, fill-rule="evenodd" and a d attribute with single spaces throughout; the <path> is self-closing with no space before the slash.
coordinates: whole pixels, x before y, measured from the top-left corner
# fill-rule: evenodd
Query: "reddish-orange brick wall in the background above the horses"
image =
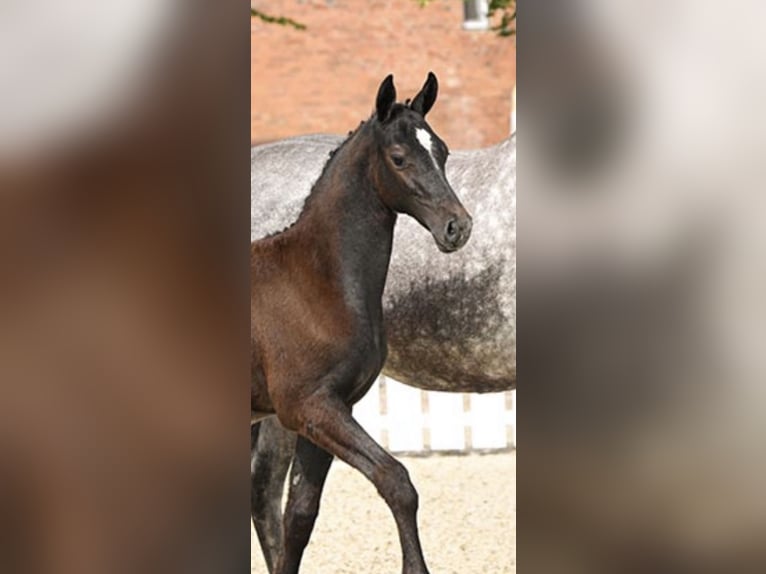
<path id="1" fill-rule="evenodd" d="M 453 149 L 508 134 L 516 41 L 462 29 L 461 0 L 256 0 L 305 31 L 251 20 L 253 143 L 296 134 L 346 133 L 373 110 L 393 73 L 399 99 L 413 97 L 429 70 L 439 99 L 429 123 Z"/>

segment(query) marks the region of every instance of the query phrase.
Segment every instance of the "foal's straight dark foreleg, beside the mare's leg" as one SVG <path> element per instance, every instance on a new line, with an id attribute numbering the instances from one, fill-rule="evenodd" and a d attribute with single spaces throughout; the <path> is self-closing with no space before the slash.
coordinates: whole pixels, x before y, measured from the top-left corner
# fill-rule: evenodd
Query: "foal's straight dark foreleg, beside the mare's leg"
<path id="1" fill-rule="evenodd" d="M 298 437 L 285 508 L 284 551 L 277 562 L 277 574 L 298 574 L 319 513 L 319 499 L 331 462 L 331 454 Z"/>

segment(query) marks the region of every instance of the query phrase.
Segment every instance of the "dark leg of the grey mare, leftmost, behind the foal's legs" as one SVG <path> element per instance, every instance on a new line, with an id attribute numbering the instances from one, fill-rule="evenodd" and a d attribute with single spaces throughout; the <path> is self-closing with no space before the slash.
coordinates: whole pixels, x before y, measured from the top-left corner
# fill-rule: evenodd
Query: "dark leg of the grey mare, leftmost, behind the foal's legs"
<path id="1" fill-rule="evenodd" d="M 295 433 L 275 417 L 251 429 L 250 513 L 270 573 L 282 552 L 282 493 L 294 447 Z"/>

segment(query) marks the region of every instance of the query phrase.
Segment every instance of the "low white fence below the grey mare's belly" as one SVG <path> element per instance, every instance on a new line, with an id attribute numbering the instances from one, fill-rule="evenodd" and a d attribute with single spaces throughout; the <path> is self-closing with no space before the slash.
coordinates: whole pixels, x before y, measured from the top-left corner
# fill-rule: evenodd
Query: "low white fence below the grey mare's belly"
<path id="1" fill-rule="evenodd" d="M 516 391 L 421 391 L 381 376 L 354 407 L 354 417 L 392 452 L 516 448 Z"/>

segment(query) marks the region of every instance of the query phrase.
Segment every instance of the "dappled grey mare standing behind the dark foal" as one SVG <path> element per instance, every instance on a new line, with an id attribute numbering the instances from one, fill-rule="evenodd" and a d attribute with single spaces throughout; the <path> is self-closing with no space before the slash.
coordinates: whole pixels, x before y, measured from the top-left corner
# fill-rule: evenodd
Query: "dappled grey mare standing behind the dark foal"
<path id="1" fill-rule="evenodd" d="M 250 193 L 258 198 L 251 201 L 251 239 L 297 219 L 343 139 L 301 136 L 251 149 Z M 447 178 L 473 215 L 471 241 L 447 256 L 413 219 L 400 218 L 383 295 L 383 373 L 426 390 L 515 388 L 515 135 L 489 148 L 453 152 Z M 253 427 L 252 515 L 270 571 L 281 544 L 280 504 L 293 441 L 275 417 Z"/>

